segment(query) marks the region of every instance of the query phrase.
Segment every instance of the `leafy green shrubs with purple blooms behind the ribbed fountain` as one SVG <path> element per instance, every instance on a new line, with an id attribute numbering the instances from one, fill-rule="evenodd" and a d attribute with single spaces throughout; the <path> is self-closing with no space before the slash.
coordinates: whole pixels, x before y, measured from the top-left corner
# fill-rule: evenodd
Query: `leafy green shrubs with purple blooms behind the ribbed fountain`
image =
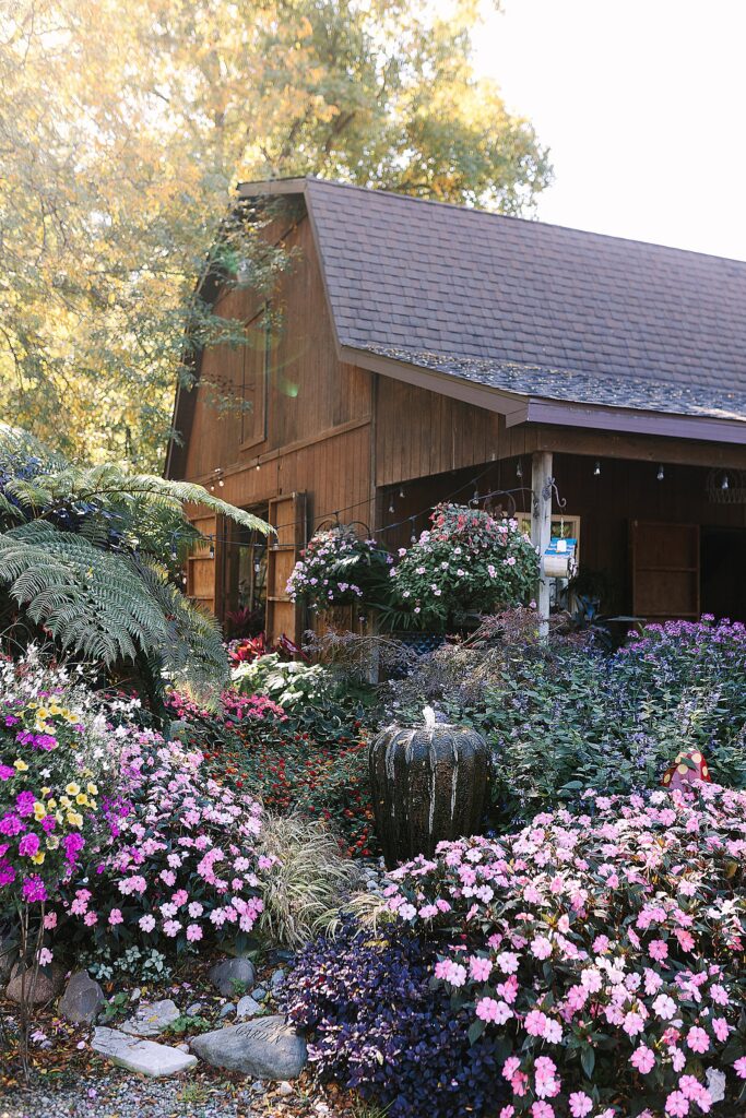
<path id="1" fill-rule="evenodd" d="M 527 819 L 585 788 L 660 784 L 678 752 L 746 786 L 746 632 L 711 620 L 650 626 L 614 656 L 587 644 L 503 636 L 446 645 L 388 689 L 385 716 L 419 722 L 429 702 L 492 751 L 492 822 Z"/>

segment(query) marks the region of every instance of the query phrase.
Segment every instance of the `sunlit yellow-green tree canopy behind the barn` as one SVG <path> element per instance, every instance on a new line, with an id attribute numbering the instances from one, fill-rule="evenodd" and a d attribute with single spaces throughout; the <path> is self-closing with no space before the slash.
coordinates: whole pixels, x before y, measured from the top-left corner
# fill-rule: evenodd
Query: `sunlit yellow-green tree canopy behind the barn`
<path id="1" fill-rule="evenodd" d="M 225 328 L 210 254 L 287 266 L 226 219 L 239 179 L 530 211 L 547 155 L 475 77 L 476 26 L 475 0 L 0 0 L 3 418 L 161 464 L 187 328 Z"/>

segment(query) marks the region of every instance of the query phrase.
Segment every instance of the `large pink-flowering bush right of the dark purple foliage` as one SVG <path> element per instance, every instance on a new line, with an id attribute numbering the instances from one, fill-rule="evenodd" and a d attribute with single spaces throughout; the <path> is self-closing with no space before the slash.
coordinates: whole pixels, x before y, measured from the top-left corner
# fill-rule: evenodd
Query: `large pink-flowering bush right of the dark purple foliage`
<path id="1" fill-rule="evenodd" d="M 580 814 L 442 843 L 388 904 L 492 1036 L 500 1118 L 684 1118 L 746 1099 L 746 793 L 587 792 Z M 726 1112 L 726 1111 L 724 1111 Z"/>

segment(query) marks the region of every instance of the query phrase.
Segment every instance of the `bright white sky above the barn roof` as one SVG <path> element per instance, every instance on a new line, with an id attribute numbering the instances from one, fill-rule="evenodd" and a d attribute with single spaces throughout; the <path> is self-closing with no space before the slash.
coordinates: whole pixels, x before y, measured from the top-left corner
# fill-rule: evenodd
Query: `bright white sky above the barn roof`
<path id="1" fill-rule="evenodd" d="M 479 68 L 551 150 L 539 219 L 746 259 L 746 0 L 503 9 Z"/>

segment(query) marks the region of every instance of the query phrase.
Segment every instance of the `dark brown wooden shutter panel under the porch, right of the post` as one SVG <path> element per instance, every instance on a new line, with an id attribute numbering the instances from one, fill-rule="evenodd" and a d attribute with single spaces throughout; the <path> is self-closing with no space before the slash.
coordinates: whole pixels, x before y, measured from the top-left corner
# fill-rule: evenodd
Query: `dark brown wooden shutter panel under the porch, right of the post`
<path id="1" fill-rule="evenodd" d="M 699 525 L 632 521 L 632 612 L 649 622 L 699 618 Z"/>

